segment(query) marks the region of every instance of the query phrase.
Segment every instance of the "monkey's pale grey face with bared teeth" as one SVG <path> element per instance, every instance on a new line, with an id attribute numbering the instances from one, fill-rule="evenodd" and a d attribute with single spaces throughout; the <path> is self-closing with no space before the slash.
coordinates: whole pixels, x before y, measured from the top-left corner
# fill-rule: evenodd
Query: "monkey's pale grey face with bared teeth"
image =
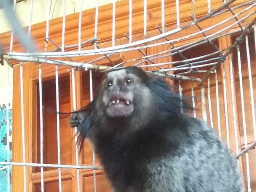
<path id="1" fill-rule="evenodd" d="M 110 118 L 130 117 L 136 105 L 144 105 L 149 91 L 141 79 L 125 69 L 106 74 L 102 81 L 100 97 L 105 114 Z M 143 101 L 144 100 L 144 101 Z M 143 104 L 144 103 L 144 104 Z"/>

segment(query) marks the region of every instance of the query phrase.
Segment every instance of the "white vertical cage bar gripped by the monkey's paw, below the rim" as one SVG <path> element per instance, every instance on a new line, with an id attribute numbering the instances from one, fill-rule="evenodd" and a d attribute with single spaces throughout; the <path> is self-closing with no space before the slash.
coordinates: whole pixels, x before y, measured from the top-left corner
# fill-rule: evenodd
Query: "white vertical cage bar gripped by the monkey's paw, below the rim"
<path id="1" fill-rule="evenodd" d="M 75 72 L 74 67 L 71 69 L 71 78 L 72 78 L 72 95 L 73 95 L 73 110 L 76 110 L 76 82 L 75 82 Z M 79 159 L 78 159 L 78 146 L 77 146 L 77 127 L 75 127 L 75 146 L 76 146 L 76 165 L 79 165 Z M 76 169 L 76 175 L 77 175 L 77 188 L 78 192 L 80 192 L 80 177 L 79 177 L 79 169 Z"/>

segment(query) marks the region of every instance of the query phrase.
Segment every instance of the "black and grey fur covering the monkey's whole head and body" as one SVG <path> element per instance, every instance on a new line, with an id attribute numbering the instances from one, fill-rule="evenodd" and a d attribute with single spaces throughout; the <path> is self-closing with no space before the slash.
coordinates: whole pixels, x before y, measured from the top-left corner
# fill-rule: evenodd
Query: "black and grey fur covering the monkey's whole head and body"
<path id="1" fill-rule="evenodd" d="M 137 67 L 110 73 L 70 124 L 78 127 L 81 143 L 92 142 L 116 192 L 243 192 L 227 147 L 206 122 L 180 112 L 179 95 L 164 81 Z M 134 79 L 129 86 L 123 83 L 127 75 Z M 112 86 L 106 87 L 109 80 Z M 132 107 L 113 111 L 113 94 Z M 184 101 L 183 107 L 190 109 Z"/>

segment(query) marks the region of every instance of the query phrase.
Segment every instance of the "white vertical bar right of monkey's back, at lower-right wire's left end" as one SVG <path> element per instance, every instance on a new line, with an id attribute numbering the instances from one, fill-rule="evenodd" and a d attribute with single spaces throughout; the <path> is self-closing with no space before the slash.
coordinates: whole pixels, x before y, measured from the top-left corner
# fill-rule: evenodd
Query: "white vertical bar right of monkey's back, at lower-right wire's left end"
<path id="1" fill-rule="evenodd" d="M 232 98 L 232 112 L 233 112 L 233 123 L 234 123 L 234 133 L 235 133 L 235 145 L 236 145 L 236 155 L 239 152 L 238 149 L 238 135 L 237 135 L 237 124 L 236 124 L 236 108 L 235 108 L 235 91 L 234 91 L 234 77 L 233 77 L 233 62 L 232 62 L 232 55 L 229 58 L 229 64 L 230 64 L 230 81 L 231 81 L 231 98 Z M 239 165 L 239 159 L 237 159 L 237 165 L 238 169 L 240 167 Z"/>

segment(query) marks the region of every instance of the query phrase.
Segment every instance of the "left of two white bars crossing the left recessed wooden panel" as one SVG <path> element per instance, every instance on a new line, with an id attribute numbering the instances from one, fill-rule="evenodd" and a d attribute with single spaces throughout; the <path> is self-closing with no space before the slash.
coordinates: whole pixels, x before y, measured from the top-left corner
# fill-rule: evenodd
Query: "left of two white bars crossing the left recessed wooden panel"
<path id="1" fill-rule="evenodd" d="M 40 113 L 40 163 L 43 164 L 43 96 L 42 96 L 42 68 L 41 63 L 39 64 L 39 113 Z M 41 192 L 44 192 L 44 169 L 40 167 L 41 173 Z"/>

